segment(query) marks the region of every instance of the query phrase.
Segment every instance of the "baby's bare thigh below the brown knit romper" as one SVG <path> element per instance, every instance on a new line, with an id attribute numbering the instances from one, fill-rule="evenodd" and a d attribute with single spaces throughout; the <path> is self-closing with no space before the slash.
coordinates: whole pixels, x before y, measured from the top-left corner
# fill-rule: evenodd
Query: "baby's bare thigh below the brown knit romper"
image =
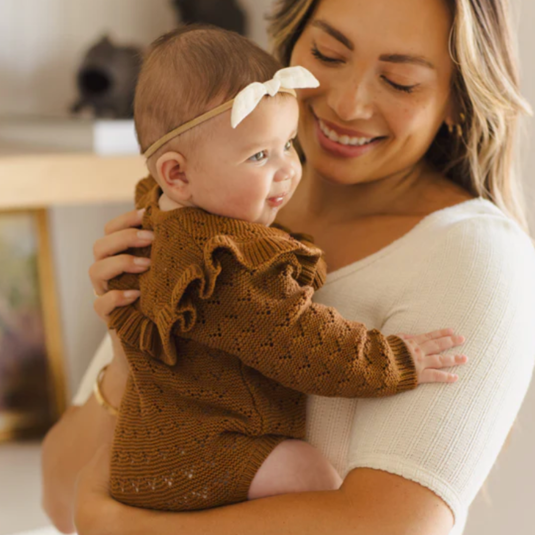
<path id="1" fill-rule="evenodd" d="M 332 464 L 302 440 L 281 442 L 262 463 L 249 487 L 247 498 L 266 498 L 275 494 L 332 491 L 342 478 Z"/>

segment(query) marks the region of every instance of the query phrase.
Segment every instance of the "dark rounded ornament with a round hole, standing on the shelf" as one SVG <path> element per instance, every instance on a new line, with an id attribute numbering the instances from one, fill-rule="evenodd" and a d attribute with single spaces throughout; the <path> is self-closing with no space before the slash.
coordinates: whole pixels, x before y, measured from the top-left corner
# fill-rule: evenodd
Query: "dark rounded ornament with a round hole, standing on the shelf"
<path id="1" fill-rule="evenodd" d="M 89 108 L 95 117 L 131 119 L 141 60 L 140 49 L 118 47 L 103 37 L 88 50 L 79 68 L 80 99 L 71 111 Z"/>

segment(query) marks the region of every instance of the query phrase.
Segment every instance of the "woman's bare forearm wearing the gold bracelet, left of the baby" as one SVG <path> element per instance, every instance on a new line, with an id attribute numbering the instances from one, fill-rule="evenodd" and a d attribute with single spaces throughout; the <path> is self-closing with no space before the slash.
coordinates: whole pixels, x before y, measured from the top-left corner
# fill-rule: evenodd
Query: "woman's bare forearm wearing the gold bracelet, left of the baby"
<path id="1" fill-rule="evenodd" d="M 104 376 L 102 391 L 110 403 L 118 406 L 124 378 L 115 372 L 112 363 Z M 100 446 L 112 440 L 115 421 L 92 395 L 83 406 L 68 409 L 43 441 L 42 504 L 52 523 L 63 533 L 74 532 L 74 487 L 78 473 Z"/>

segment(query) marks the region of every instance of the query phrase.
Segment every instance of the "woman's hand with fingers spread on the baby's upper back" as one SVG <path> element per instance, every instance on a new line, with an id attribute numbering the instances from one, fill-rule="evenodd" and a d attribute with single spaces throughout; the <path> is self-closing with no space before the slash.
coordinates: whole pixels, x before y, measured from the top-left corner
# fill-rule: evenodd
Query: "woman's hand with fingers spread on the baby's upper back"
<path id="1" fill-rule="evenodd" d="M 89 277 L 98 296 L 94 307 L 106 323 L 114 308 L 131 304 L 140 295 L 137 290 L 108 291 L 108 281 L 120 273 L 143 273 L 149 269 L 149 258 L 123 253 L 131 247 L 147 247 L 154 239 L 152 232 L 137 228 L 141 225 L 143 212 L 132 210 L 109 221 L 104 228 L 104 237 L 93 247 L 95 263 L 89 268 Z"/>

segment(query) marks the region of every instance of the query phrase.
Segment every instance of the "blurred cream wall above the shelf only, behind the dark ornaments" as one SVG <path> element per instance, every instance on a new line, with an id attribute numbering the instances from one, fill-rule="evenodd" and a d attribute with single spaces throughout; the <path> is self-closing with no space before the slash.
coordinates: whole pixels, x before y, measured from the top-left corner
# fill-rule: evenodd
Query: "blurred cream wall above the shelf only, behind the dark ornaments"
<path id="1" fill-rule="evenodd" d="M 265 45 L 262 6 L 270 2 L 241 4 L 250 11 L 250 35 Z M 170 0 L 0 0 L 0 117 L 65 114 L 91 44 L 109 33 L 146 46 L 176 20 Z"/>

